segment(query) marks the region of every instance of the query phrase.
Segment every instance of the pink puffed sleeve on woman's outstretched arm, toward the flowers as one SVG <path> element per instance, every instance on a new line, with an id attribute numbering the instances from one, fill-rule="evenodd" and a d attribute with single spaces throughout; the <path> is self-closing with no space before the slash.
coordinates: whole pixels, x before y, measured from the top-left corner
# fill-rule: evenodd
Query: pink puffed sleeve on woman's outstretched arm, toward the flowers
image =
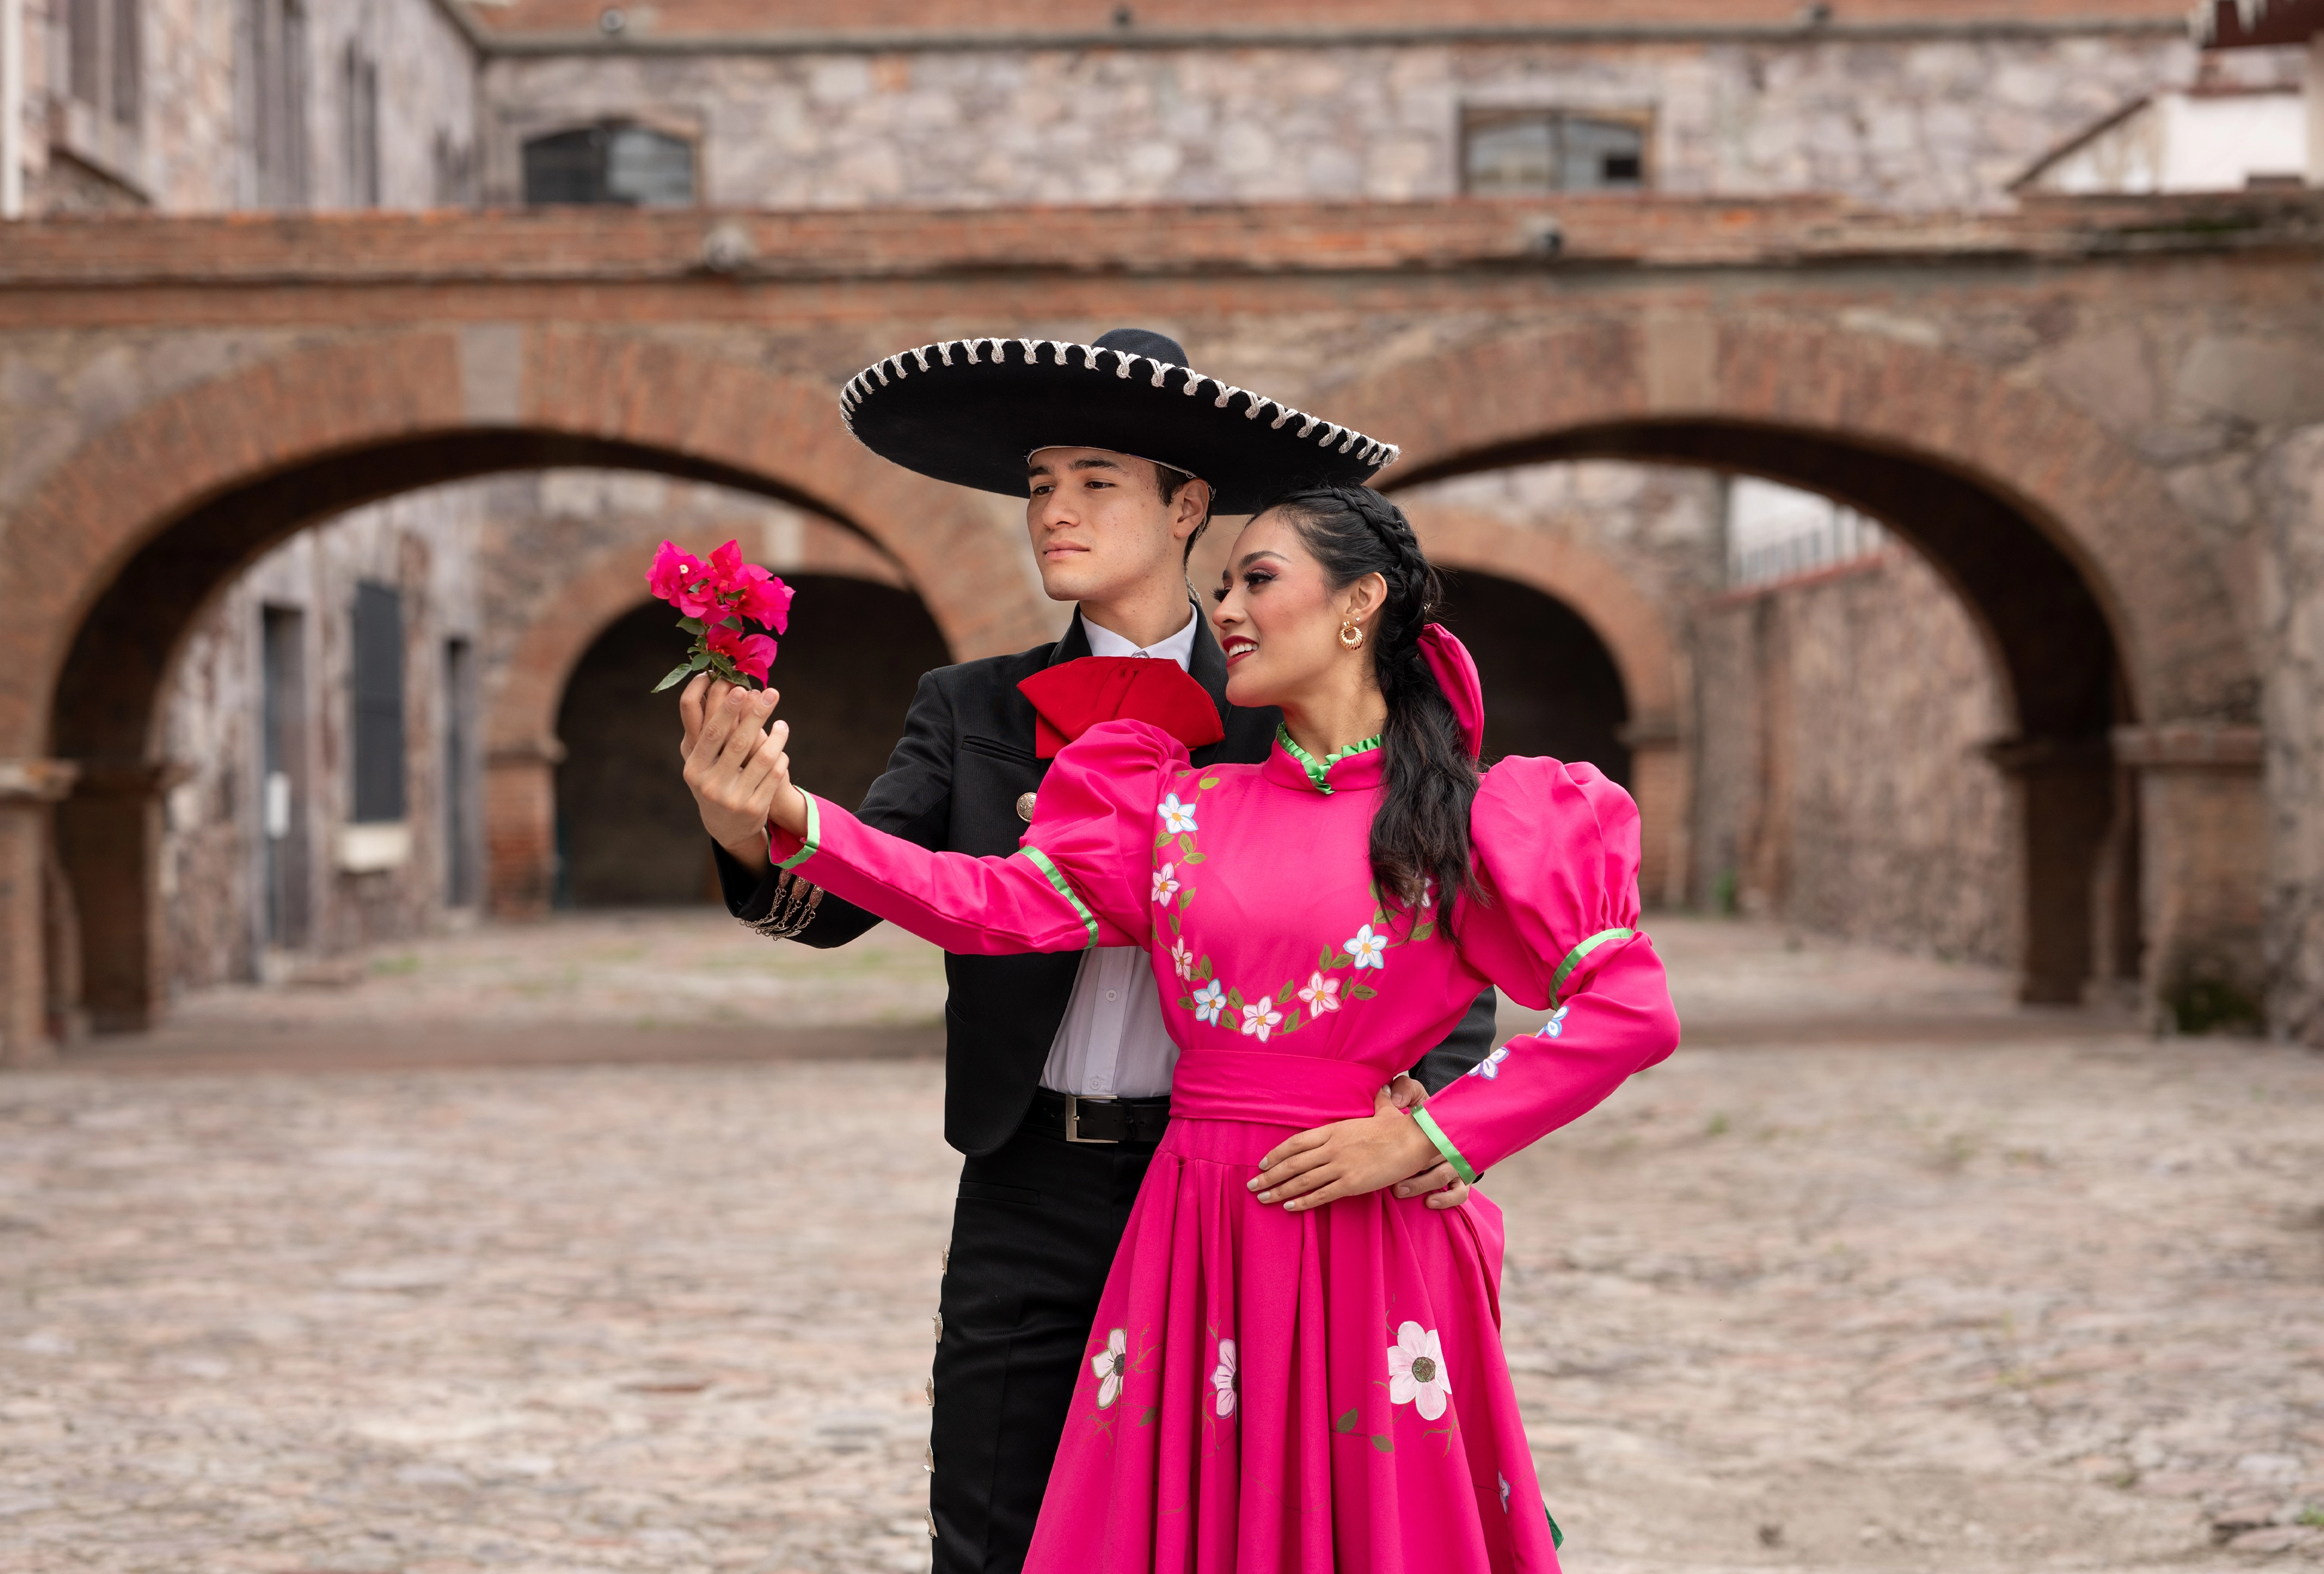
<path id="1" fill-rule="evenodd" d="M 1143 946 L 1162 784 L 1185 746 L 1143 721 L 1106 721 L 1067 744 L 1009 858 L 932 853 L 809 795 L 806 835 L 769 856 L 837 897 L 962 956 Z"/>

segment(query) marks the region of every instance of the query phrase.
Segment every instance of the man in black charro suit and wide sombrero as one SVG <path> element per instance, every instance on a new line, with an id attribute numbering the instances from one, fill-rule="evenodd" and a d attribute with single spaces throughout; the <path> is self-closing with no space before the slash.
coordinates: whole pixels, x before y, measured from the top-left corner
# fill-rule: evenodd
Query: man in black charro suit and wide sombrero
<path id="1" fill-rule="evenodd" d="M 1134 328 L 1090 346 L 932 344 L 855 377 L 841 407 L 895 463 L 1027 498 L 1041 588 L 1076 602 L 1055 644 L 923 677 L 888 772 L 865 795 L 865 823 L 976 856 L 1018 851 L 1043 753 L 1055 753 L 1041 749 L 1034 700 L 1018 684 L 1085 656 L 1185 667 L 1222 732 L 1195 763 L 1264 760 L 1278 714 L 1227 704 L 1227 663 L 1192 602 L 1185 558 L 1213 507 L 1250 511 L 1304 479 L 1364 481 L 1394 458 L 1188 372 L 1176 342 Z M 878 918 L 769 867 L 765 818 L 732 790 L 725 744 L 739 725 L 765 725 L 772 704 L 695 679 L 681 700 L 686 781 L 718 842 L 734 916 L 769 937 L 841 946 Z M 967 1162 L 937 1318 L 930 1532 L 939 1574 L 1013 1572 L 1106 1267 L 1169 1118 L 1176 1049 L 1136 949 L 948 956 L 946 979 L 944 1137 Z M 1492 1004 L 1487 990 L 1427 1056 L 1425 1086 L 1441 1088 L 1492 1049 Z M 1404 1186 L 1457 1181 L 1439 1167 Z"/>

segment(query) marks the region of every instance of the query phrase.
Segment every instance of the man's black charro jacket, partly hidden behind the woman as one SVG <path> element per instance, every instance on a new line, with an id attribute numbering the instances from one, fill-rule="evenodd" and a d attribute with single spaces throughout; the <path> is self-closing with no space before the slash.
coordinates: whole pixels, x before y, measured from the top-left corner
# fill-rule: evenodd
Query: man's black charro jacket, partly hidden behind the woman
<path id="1" fill-rule="evenodd" d="M 1025 821 L 1016 804 L 1039 790 L 1048 760 L 1034 756 L 1032 702 L 1018 684 L 1041 667 L 1090 653 L 1090 635 L 1074 614 L 1055 644 L 1016 656 L 988 656 L 939 667 L 920 679 L 904 716 L 904 737 L 888 770 L 865 793 L 855 816 L 930 851 L 1006 858 L 1018 851 Z M 1274 749 L 1281 711 L 1227 704 L 1227 658 L 1197 611 L 1188 672 L 1211 693 L 1227 735 L 1195 751 L 1195 765 L 1260 763 Z M 765 918 L 776 897 L 776 874 L 751 874 L 723 849 L 718 881 L 727 911 L 746 923 Z M 825 893 L 799 944 L 844 946 L 878 918 Z M 1041 1081 L 1057 1023 L 1074 997 L 1081 951 L 1034 956 L 944 958 L 951 1000 L 944 1007 L 944 1139 L 962 1153 L 990 1153 L 1009 1142 Z M 1434 1093 L 1492 1051 L 1494 993 L 1432 1049 L 1413 1074 Z"/>

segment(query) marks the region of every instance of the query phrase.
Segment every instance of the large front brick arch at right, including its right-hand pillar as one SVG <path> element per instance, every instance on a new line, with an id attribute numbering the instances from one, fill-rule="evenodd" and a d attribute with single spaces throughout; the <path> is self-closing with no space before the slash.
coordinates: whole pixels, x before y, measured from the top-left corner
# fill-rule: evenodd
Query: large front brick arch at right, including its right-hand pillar
<path id="1" fill-rule="evenodd" d="M 2140 946 L 2150 997 L 2205 958 L 2261 953 L 2257 777 L 2224 737 L 2259 695 L 2236 600 L 2157 472 L 2038 379 L 1666 305 L 1404 360 L 1332 412 L 1404 444 L 1390 488 L 1624 458 L 1764 474 L 1882 518 L 1961 595 L 2013 704 L 1992 758 L 2020 811 L 2022 995 L 2078 1000 Z M 2254 970 L 2236 972 L 2257 993 Z"/>

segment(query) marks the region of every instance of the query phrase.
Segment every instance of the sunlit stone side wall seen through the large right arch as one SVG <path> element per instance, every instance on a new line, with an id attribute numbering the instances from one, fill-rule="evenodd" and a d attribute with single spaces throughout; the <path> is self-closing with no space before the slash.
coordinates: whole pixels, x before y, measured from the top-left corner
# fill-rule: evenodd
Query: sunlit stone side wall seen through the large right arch
<path id="1" fill-rule="evenodd" d="M 2015 814 L 1982 746 L 2006 695 L 1968 611 L 1892 551 L 1694 621 L 1703 904 L 2017 958 Z"/>

